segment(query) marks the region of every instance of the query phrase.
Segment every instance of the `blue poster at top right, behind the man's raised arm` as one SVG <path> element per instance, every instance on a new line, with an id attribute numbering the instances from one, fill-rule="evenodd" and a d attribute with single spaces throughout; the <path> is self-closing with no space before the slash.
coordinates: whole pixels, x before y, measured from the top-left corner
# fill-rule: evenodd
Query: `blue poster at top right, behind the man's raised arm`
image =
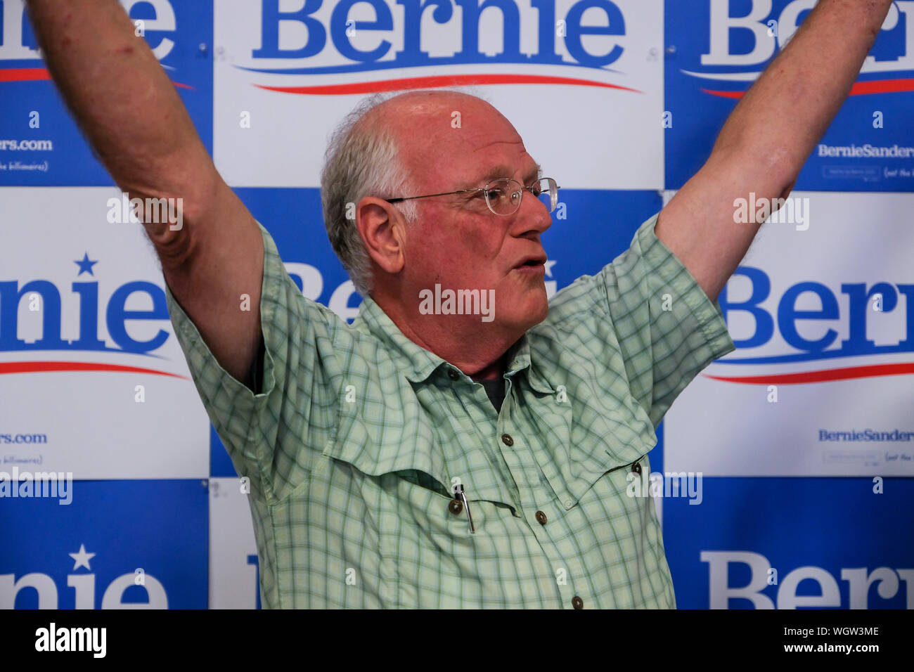
<path id="1" fill-rule="evenodd" d="M 809 5 L 803 0 L 667 0 L 667 189 L 682 187 L 705 163 L 730 112 L 794 35 Z M 912 31 L 914 5 L 895 3 L 795 189 L 914 191 Z M 806 102 L 799 91 L 792 107 L 799 110 Z M 791 109 L 770 112 L 779 118 L 792 114 Z M 754 140 L 761 146 L 766 142 Z M 772 145 L 778 140 L 770 138 Z"/>

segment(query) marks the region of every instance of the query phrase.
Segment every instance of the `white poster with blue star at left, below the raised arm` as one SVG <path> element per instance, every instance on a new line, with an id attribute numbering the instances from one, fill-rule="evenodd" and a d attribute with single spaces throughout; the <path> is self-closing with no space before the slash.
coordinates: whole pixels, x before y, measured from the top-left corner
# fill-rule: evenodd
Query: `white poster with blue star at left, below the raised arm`
<path id="1" fill-rule="evenodd" d="M 113 187 L 0 188 L 0 469 L 201 478 L 209 422 Z"/>

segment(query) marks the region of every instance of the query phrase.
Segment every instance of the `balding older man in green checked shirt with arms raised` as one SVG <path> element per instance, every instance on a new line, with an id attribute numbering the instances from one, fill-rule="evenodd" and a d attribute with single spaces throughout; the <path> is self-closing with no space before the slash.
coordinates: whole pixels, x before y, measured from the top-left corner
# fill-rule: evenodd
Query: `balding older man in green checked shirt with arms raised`
<path id="1" fill-rule="evenodd" d="M 706 165 L 552 304 L 540 236 L 557 186 L 514 127 L 452 91 L 360 109 L 322 185 L 366 294 L 349 326 L 297 290 L 120 7 L 31 0 L 117 183 L 184 198 L 183 229 L 146 228 L 197 389 L 250 478 L 264 604 L 675 606 L 654 504 L 626 486 L 676 395 L 733 349 L 717 293 L 760 226 L 734 224 L 734 199 L 790 192 L 888 5 L 823 0 Z M 492 319 L 423 307 L 442 288 L 491 297 Z"/>

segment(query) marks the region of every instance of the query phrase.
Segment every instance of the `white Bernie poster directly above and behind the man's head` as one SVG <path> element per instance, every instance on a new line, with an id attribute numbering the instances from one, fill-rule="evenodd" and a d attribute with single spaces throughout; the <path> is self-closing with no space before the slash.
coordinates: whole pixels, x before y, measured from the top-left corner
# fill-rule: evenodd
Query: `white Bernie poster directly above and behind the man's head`
<path id="1" fill-rule="evenodd" d="M 213 147 L 233 187 L 317 187 L 327 138 L 360 99 L 447 80 L 514 123 L 562 187 L 663 188 L 660 0 L 517 0 L 481 13 L 263 5 L 214 7 Z"/>

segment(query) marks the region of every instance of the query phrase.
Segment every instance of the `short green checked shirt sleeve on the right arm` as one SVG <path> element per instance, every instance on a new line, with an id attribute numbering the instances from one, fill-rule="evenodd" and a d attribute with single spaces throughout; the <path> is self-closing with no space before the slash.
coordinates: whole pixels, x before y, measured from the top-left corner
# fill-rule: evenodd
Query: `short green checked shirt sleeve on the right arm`
<path id="1" fill-rule="evenodd" d="M 632 396 L 654 427 L 702 369 L 736 349 L 720 305 L 654 233 L 659 216 L 596 276 Z"/>

